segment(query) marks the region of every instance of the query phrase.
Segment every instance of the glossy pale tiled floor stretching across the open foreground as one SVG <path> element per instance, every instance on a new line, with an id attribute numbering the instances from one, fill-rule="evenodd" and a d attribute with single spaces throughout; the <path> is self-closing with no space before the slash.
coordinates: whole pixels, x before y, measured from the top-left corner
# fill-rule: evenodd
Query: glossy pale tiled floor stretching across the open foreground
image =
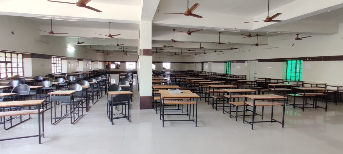
<path id="1" fill-rule="evenodd" d="M 117 79 L 117 75 L 112 78 Z M 135 82 L 135 81 L 134 81 Z M 300 109 L 286 107 L 285 128 L 279 123 L 258 123 L 251 130 L 229 118 L 222 111 L 215 111 L 204 101 L 198 109 L 198 127 L 192 122 L 162 121 L 154 110 L 139 110 L 139 95 L 134 86 L 132 122 L 115 120 L 111 125 L 106 117 L 105 98 L 92 105 L 89 112 L 75 124 L 65 119 L 50 124 L 50 111 L 45 114 L 45 135 L 42 144 L 37 138 L 0 142 L 1 154 L 341 154 L 343 153 L 343 104 L 329 109 Z M 281 118 L 281 107 L 275 108 L 275 118 Z M 265 108 L 268 120 L 270 108 Z M 260 120 L 260 116 L 256 116 Z M 0 138 L 37 133 L 37 116 L 10 130 L 0 129 Z M 0 125 L 2 127 L 2 125 Z"/>

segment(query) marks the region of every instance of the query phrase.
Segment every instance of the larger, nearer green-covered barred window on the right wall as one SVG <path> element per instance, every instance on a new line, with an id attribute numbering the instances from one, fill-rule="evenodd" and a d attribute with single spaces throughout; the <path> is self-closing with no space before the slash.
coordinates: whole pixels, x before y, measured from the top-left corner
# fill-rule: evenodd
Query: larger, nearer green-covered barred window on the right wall
<path id="1" fill-rule="evenodd" d="M 286 80 L 301 81 L 303 60 L 287 60 Z"/>

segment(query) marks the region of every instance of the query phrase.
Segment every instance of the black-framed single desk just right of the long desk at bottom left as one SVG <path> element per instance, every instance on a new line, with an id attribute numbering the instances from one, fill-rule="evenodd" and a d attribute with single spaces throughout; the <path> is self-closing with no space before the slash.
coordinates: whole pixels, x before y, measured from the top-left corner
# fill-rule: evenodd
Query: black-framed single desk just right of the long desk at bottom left
<path id="1" fill-rule="evenodd" d="M 51 124 L 54 125 L 60 120 L 64 118 L 70 118 L 70 123 L 74 124 L 76 120 L 78 120 L 83 115 L 83 109 L 81 107 L 82 113 L 80 113 L 80 105 L 77 104 L 76 107 L 74 107 L 74 94 L 76 93 L 76 90 L 58 90 L 55 92 L 48 93 L 50 95 L 50 104 L 51 104 Z M 60 115 L 56 115 L 56 102 L 67 102 L 70 103 L 69 111 L 66 108 L 66 112 L 62 113 L 62 109 L 60 112 Z M 52 102 L 54 103 L 54 107 L 52 106 Z M 54 114 L 52 111 L 52 108 L 54 108 Z M 77 109 L 77 111 L 75 110 Z M 77 117 L 76 117 L 77 116 Z M 75 118 L 76 117 L 76 118 Z"/>

